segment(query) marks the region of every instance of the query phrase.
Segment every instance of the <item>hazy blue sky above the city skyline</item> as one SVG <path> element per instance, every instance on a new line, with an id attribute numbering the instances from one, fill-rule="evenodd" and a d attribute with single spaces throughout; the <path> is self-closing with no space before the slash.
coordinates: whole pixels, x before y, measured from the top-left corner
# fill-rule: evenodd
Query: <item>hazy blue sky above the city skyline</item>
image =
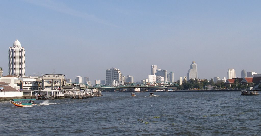
<path id="1" fill-rule="evenodd" d="M 227 77 L 228 68 L 261 73 L 261 1 L 13 0 L 0 4 L 0 67 L 8 50 L 26 50 L 26 76 L 64 74 L 105 80 L 118 68 L 134 81 L 151 65 L 199 79 Z"/>

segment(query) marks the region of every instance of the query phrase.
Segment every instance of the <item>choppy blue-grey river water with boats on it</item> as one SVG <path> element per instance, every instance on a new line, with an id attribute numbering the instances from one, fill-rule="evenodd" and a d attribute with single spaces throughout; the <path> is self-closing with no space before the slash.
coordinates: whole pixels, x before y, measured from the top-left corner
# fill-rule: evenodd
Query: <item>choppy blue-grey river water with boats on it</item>
<path id="1" fill-rule="evenodd" d="M 0 135 L 260 135 L 260 96 L 103 92 L 82 100 L 0 102 Z"/>

